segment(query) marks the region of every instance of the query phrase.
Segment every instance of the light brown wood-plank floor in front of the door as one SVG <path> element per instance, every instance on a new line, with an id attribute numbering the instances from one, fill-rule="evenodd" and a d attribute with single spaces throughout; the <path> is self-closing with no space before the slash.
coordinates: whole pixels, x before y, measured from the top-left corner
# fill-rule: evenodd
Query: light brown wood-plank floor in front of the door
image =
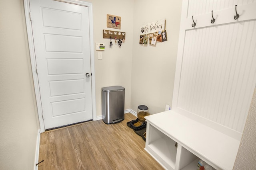
<path id="1" fill-rule="evenodd" d="M 145 150 L 145 141 L 126 125 L 102 120 L 47 131 L 40 137 L 38 170 L 161 170 Z"/>

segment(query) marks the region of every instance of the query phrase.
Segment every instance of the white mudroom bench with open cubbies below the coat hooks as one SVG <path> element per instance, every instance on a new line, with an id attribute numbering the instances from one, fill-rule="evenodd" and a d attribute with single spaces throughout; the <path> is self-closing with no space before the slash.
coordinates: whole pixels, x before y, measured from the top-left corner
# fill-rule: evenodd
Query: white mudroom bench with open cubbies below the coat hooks
<path id="1" fill-rule="evenodd" d="M 172 110 L 145 118 L 145 150 L 165 169 L 196 170 L 202 159 L 217 170 L 232 170 L 240 140 Z"/>

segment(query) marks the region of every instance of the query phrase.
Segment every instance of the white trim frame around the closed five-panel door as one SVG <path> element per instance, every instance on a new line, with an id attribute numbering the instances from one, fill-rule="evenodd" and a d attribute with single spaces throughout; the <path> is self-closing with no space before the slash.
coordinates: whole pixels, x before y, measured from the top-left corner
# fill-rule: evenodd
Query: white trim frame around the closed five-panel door
<path id="1" fill-rule="evenodd" d="M 33 81 L 34 81 L 34 89 L 36 93 L 36 105 L 38 111 L 38 119 L 40 123 L 40 131 L 44 132 L 44 119 L 42 115 L 42 104 L 41 104 L 41 97 L 40 97 L 40 90 L 39 90 L 39 82 L 38 82 L 38 75 L 36 73 L 36 55 L 34 51 L 34 40 L 33 40 L 33 33 L 32 33 L 32 23 L 30 18 L 33 19 L 33 14 L 30 14 L 30 6 L 29 0 L 24 1 L 24 11 L 25 11 L 25 19 L 26 19 L 26 27 L 28 33 L 28 45 L 29 45 L 29 53 L 30 53 L 30 61 L 32 66 L 32 74 L 33 74 Z M 81 6 L 86 6 L 89 8 L 89 28 L 90 28 L 90 59 L 91 59 L 91 80 L 92 80 L 92 119 L 96 120 L 96 95 L 95 95 L 95 71 L 94 71 L 94 42 L 93 42 L 93 18 L 92 18 L 92 3 L 90 2 L 83 2 L 80 0 L 57 0 L 60 2 L 66 2 L 70 4 L 76 4 Z"/>

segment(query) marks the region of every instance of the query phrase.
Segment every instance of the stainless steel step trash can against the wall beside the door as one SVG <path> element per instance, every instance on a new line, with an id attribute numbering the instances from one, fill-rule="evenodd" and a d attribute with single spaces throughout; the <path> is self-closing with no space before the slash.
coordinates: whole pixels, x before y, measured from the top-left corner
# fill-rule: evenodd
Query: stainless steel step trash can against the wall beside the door
<path id="1" fill-rule="evenodd" d="M 124 87 L 102 88 L 102 120 L 106 124 L 124 120 Z"/>

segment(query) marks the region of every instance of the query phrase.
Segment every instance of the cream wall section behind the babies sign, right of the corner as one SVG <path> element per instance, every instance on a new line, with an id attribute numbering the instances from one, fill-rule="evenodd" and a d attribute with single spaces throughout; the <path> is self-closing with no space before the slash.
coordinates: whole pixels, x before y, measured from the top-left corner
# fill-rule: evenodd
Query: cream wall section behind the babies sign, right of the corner
<path id="1" fill-rule="evenodd" d="M 172 104 L 180 28 L 181 0 L 135 0 L 131 109 L 144 104 L 150 114 Z M 166 19 L 167 39 L 156 46 L 140 45 L 140 25 Z"/>

